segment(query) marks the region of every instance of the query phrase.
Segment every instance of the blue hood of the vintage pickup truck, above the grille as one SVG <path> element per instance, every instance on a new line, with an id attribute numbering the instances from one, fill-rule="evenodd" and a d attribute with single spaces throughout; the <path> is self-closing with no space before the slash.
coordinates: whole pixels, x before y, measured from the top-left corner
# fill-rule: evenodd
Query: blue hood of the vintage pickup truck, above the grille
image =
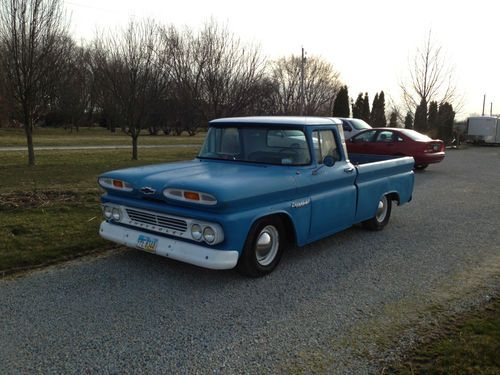
<path id="1" fill-rule="evenodd" d="M 169 204 L 202 209 L 239 210 L 257 204 L 262 206 L 294 199 L 297 195 L 295 169 L 286 166 L 258 165 L 236 161 L 200 160 L 157 164 L 107 172 L 101 177 L 129 182 L 130 193 L 109 190 L 111 195 L 138 199 L 156 199 Z M 149 187 L 154 194 L 140 189 Z M 214 206 L 166 198 L 166 188 L 192 190 L 213 195 Z"/>

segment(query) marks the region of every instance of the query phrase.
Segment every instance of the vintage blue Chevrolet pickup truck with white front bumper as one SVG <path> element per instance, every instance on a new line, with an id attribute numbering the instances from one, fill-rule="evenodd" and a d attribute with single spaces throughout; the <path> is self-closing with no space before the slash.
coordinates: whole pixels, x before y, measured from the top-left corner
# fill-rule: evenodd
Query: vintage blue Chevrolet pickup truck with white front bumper
<path id="1" fill-rule="evenodd" d="M 104 173 L 102 237 L 212 269 L 271 272 L 283 250 L 409 202 L 411 157 L 347 155 L 342 123 L 319 117 L 211 121 L 195 160 Z"/>

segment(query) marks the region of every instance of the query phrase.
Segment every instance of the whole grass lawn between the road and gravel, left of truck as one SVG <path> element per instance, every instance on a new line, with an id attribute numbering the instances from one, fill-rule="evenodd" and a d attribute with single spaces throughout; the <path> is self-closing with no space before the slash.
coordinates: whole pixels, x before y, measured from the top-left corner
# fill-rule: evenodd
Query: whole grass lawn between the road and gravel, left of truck
<path id="1" fill-rule="evenodd" d="M 98 236 L 97 176 L 111 169 L 192 159 L 198 148 L 0 152 L 0 273 L 113 246 Z"/>

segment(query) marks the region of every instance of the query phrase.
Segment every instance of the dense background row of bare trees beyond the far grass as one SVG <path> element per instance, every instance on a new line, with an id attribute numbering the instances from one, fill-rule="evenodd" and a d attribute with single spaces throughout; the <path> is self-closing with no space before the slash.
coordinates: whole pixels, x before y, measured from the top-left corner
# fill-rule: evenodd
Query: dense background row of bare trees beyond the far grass
<path id="1" fill-rule="evenodd" d="M 15 62 L 7 58 L 15 48 L 9 37 L 0 40 L 7 68 L 0 81 L 4 126 L 26 121 L 24 98 L 18 95 L 25 88 L 16 87 L 23 83 Z M 301 112 L 301 58 L 266 60 L 257 46 L 215 22 L 194 32 L 131 21 L 124 30 L 99 34 L 87 45 L 64 32 L 50 53 L 39 62 L 46 67 L 29 67 L 43 74 L 32 82 L 40 92 L 26 103 L 37 126 L 191 132 L 218 117 Z M 303 113 L 332 115 L 339 73 L 320 57 L 308 58 L 304 67 Z"/>

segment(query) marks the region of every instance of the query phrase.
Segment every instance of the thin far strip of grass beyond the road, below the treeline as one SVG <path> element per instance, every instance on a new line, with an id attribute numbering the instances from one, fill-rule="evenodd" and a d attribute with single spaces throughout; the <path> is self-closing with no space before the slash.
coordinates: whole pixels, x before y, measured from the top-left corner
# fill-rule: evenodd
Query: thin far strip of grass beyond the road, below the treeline
<path id="1" fill-rule="evenodd" d="M 183 133 L 180 136 L 149 135 L 143 132 L 139 136 L 141 145 L 176 145 L 201 144 L 206 132 L 199 132 L 195 136 Z M 111 133 L 104 128 L 81 128 L 78 132 L 62 128 L 36 128 L 33 132 L 33 143 L 36 146 L 96 146 L 96 145 L 132 145 L 132 138 L 117 130 Z M 26 136 L 22 129 L 0 128 L 0 147 L 26 146 Z"/>

